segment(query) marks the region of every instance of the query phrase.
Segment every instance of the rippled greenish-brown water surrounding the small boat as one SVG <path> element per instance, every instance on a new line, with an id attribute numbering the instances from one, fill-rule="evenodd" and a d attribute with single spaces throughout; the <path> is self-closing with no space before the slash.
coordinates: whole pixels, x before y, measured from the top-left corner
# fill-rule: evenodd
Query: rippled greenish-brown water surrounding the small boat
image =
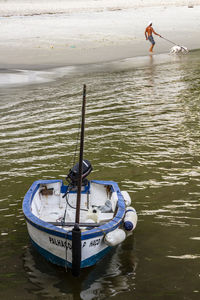
<path id="1" fill-rule="evenodd" d="M 78 71 L 0 91 L 0 296 L 199 299 L 200 51 Z M 72 166 L 83 83 L 90 178 L 117 181 L 139 222 L 77 280 L 34 251 L 21 206 L 34 180 Z"/>

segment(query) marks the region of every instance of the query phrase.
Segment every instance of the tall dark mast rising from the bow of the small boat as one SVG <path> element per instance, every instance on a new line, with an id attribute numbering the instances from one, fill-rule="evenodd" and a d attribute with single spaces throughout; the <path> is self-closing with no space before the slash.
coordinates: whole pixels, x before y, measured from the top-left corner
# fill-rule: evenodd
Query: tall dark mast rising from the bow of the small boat
<path id="1" fill-rule="evenodd" d="M 80 223 L 80 207 L 81 207 L 81 186 L 83 173 L 83 149 L 84 149 L 84 131 L 85 131 L 85 104 L 86 104 L 86 85 L 83 85 L 83 102 L 82 102 L 82 122 L 80 137 L 80 155 L 79 155 L 79 179 L 76 200 L 76 218 L 75 225 L 72 229 L 72 275 L 79 276 L 81 267 L 81 230 Z"/>

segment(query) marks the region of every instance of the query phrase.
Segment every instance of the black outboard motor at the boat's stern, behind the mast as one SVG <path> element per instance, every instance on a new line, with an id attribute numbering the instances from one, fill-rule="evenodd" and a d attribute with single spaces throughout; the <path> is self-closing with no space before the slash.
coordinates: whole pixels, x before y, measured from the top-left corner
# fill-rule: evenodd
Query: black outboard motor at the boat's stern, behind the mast
<path id="1" fill-rule="evenodd" d="M 82 185 L 87 185 L 87 179 L 86 177 L 90 174 L 92 171 L 92 165 L 89 162 L 89 160 L 84 159 L 83 160 L 83 173 L 82 173 Z M 66 180 L 70 182 L 72 186 L 78 185 L 78 179 L 79 179 L 79 163 L 75 164 L 72 169 L 69 170 L 69 174 L 66 177 Z"/>

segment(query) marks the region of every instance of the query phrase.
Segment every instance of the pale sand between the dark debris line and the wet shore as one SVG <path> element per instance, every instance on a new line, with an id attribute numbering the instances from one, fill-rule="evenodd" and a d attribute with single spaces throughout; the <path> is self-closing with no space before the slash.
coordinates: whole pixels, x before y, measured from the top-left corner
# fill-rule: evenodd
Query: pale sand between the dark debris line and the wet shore
<path id="1" fill-rule="evenodd" d="M 149 55 L 150 43 L 144 38 L 149 15 L 156 32 L 189 50 L 199 49 L 199 14 L 200 5 L 3 18 L 0 72 L 100 64 Z M 169 53 L 173 46 L 157 36 L 155 41 L 155 54 Z"/>

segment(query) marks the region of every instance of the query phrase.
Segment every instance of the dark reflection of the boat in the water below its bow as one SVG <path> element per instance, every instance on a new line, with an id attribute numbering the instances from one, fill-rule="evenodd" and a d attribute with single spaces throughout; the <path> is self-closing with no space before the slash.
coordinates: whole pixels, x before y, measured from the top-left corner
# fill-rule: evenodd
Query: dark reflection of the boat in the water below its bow
<path id="1" fill-rule="evenodd" d="M 30 245 L 24 253 L 24 269 L 33 284 L 32 293 L 47 299 L 105 299 L 133 291 L 138 260 L 135 256 L 133 236 L 118 246 L 96 266 L 82 270 L 80 279 L 71 272 L 46 262 Z"/>

